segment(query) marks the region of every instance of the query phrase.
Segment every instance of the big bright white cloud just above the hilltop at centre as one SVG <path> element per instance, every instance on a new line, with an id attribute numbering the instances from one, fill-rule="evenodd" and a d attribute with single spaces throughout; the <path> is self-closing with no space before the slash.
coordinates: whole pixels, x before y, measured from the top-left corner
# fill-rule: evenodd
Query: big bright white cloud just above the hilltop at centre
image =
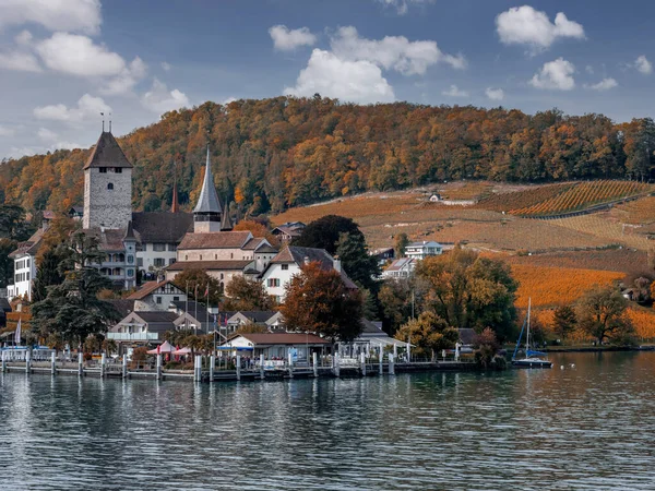
<path id="1" fill-rule="evenodd" d="M 307 68 L 300 71 L 295 87 L 285 95 L 335 97 L 352 103 L 391 103 L 393 87 L 382 76 L 378 65 L 367 60 L 343 60 L 335 53 L 314 49 Z"/>

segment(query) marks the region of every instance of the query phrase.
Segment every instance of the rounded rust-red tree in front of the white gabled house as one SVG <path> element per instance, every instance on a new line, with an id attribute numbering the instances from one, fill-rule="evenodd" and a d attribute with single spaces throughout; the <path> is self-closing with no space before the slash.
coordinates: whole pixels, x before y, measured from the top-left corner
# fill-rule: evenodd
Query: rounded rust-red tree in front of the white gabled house
<path id="1" fill-rule="evenodd" d="M 324 271 L 315 262 L 291 277 L 279 310 L 287 330 L 315 333 L 333 343 L 352 342 L 364 328 L 359 291 L 347 289 L 336 271 Z"/>

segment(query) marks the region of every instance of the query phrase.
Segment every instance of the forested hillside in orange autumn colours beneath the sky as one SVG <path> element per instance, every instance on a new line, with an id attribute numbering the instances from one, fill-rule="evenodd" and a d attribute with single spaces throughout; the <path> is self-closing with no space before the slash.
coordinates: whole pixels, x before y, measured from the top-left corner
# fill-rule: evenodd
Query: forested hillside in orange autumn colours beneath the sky
<path id="1" fill-rule="evenodd" d="M 222 196 L 253 215 L 441 180 L 643 180 L 655 167 L 651 119 L 615 124 L 558 110 L 356 106 L 319 96 L 205 103 L 167 112 L 119 143 L 135 166 L 134 207 L 145 211 L 169 206 L 175 173 L 180 201 L 190 206 L 207 143 Z M 0 202 L 27 211 L 81 204 L 87 155 L 59 151 L 3 161 Z"/>

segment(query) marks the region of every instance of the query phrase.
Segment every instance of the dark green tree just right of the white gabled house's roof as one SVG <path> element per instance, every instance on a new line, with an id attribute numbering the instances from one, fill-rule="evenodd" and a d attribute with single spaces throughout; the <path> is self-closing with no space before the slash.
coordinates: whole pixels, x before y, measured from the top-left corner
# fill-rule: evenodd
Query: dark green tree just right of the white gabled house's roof
<path id="1" fill-rule="evenodd" d="M 366 289 L 378 291 L 376 278 L 380 276 L 380 266 L 378 260 L 369 254 L 361 233 L 342 233 L 338 238 L 336 255 L 353 282 Z"/>

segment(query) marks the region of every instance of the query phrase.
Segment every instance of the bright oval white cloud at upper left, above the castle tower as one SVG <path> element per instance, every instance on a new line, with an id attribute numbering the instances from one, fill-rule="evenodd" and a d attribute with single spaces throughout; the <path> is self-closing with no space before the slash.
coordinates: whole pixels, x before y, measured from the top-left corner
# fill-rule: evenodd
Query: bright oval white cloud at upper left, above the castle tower
<path id="1" fill-rule="evenodd" d="M 126 68 L 120 55 L 76 34 L 55 33 L 37 44 L 36 51 L 50 70 L 70 75 L 112 76 Z"/>

